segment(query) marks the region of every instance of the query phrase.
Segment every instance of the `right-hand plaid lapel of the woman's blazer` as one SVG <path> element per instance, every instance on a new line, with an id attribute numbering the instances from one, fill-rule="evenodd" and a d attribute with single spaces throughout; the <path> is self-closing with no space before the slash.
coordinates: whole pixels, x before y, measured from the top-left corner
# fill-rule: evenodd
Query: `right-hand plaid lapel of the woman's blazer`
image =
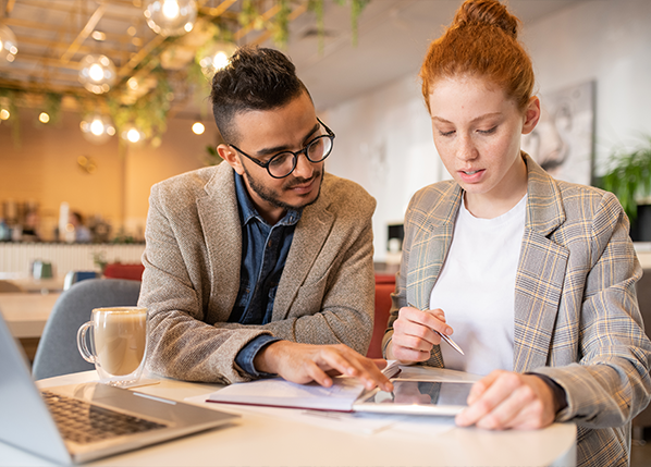
<path id="1" fill-rule="evenodd" d="M 565 221 L 554 180 L 528 156 L 525 234 L 515 284 L 514 371 L 548 365 L 569 253 L 551 234 Z"/>

